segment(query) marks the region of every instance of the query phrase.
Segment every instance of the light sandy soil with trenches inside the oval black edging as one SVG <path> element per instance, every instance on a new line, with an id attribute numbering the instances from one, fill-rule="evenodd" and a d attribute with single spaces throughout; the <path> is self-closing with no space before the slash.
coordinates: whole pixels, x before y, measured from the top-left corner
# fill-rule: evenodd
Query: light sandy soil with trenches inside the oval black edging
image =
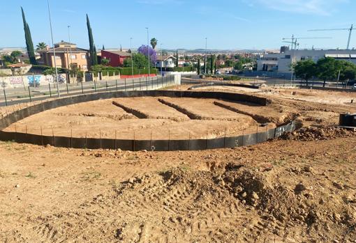
<path id="1" fill-rule="evenodd" d="M 186 107 L 190 116 L 159 100 Z M 157 140 L 211 139 L 256 131 L 258 123 L 251 116 L 218 107 L 214 101 L 168 97 L 98 100 L 38 113 L 6 131 L 103 139 L 114 139 L 116 133 L 117 139 Z"/>

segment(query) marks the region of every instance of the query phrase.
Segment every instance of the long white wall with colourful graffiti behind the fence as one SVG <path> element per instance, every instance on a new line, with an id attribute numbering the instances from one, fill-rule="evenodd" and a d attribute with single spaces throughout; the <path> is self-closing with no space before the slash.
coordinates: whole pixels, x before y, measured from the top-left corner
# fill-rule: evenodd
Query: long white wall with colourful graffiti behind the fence
<path id="1" fill-rule="evenodd" d="M 23 87 L 36 87 L 48 86 L 53 84 L 55 75 L 24 75 L 24 76 L 10 76 L 0 77 L 0 88 L 23 88 Z M 66 75 L 58 75 L 59 84 L 66 83 Z"/>

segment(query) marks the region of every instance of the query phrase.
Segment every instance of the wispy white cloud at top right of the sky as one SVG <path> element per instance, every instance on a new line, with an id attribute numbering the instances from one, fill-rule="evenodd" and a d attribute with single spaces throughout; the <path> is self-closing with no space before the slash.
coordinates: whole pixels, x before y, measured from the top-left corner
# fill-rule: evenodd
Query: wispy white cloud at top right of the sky
<path id="1" fill-rule="evenodd" d="M 246 0 L 243 0 L 246 3 Z M 349 0 L 251 0 L 250 5 L 262 5 L 267 8 L 291 13 L 313 15 L 332 15 L 339 4 Z"/>

